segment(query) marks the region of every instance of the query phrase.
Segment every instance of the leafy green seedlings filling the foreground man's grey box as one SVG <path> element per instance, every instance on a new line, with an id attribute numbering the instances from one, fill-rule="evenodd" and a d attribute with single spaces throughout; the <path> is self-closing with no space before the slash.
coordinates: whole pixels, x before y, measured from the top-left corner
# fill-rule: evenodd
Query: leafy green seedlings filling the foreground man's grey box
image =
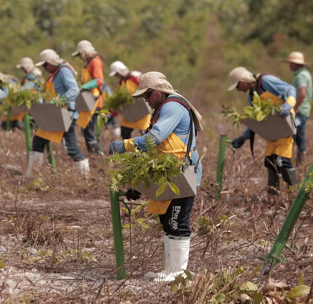
<path id="1" fill-rule="evenodd" d="M 107 158 L 116 169 L 111 171 L 112 177 L 109 187 L 114 191 L 119 191 L 126 183 L 131 188 L 142 182 L 144 187 L 150 188 L 151 184 L 158 184 L 160 187 L 156 192 L 156 197 L 160 196 L 166 186 L 179 194 L 179 189 L 175 185 L 177 176 L 182 173 L 180 167 L 184 164 L 172 154 L 159 154 L 157 152 L 154 138 L 147 134 L 145 137 L 147 152 L 136 149 L 130 153 L 114 153 Z"/>

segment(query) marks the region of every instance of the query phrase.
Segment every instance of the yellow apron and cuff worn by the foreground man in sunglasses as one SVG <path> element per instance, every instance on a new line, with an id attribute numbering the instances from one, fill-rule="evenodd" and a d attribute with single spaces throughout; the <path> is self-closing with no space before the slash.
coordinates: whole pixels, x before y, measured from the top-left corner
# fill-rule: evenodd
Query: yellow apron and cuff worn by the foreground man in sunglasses
<path id="1" fill-rule="evenodd" d="M 157 119 L 154 121 L 154 123 L 156 123 L 156 121 Z M 134 140 L 132 138 L 124 140 L 124 147 L 126 151 L 134 151 Z M 156 146 L 156 149 L 160 154 L 169 153 L 178 157 L 178 159 L 182 161 L 186 156 L 187 146 L 177 137 L 174 132 L 172 132 L 161 144 Z M 191 156 L 191 153 L 189 156 Z M 154 214 L 165 214 L 168 206 L 171 204 L 171 201 L 172 200 L 169 199 L 166 201 L 157 202 L 149 198 L 147 211 Z"/>

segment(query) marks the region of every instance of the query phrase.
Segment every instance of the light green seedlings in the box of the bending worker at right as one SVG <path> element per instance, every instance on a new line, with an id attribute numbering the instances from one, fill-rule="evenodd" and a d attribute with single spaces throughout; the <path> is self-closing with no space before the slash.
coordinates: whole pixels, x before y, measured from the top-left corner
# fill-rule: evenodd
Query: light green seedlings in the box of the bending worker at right
<path id="1" fill-rule="evenodd" d="M 233 110 L 229 110 L 229 107 L 223 106 L 223 114 L 226 117 L 226 120 L 233 120 L 233 125 L 243 119 L 250 118 L 256 121 L 263 121 L 266 120 L 268 115 L 275 115 L 276 112 L 281 111 L 281 106 L 279 105 L 278 101 L 274 104 L 271 104 L 271 99 L 269 100 L 260 100 L 259 95 L 257 92 L 253 92 L 253 101 L 252 106 L 245 106 L 243 111 L 239 111 L 233 107 Z"/>

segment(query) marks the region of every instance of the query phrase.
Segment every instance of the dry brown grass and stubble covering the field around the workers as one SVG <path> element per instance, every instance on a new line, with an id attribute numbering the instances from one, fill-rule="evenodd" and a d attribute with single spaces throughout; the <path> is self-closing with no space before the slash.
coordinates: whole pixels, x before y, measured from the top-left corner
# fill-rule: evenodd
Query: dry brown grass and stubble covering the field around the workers
<path id="1" fill-rule="evenodd" d="M 188 264 L 189 271 L 199 273 L 200 277 L 194 278 L 201 284 L 204 270 L 217 274 L 238 265 L 250 270 L 258 266 L 258 257 L 269 252 L 296 194 L 283 186 L 279 198 L 268 200 L 264 142 L 257 139 L 255 161 L 248 144 L 236 151 L 234 158 L 230 150 L 226 152 L 222 201 L 214 202 L 218 134 L 233 138 L 239 131 L 213 114 L 206 117 L 204 125 L 205 131 L 197 138 L 203 183 L 192 212 Z M 311 133 L 309 121 L 307 137 Z M 77 134 L 87 155 L 79 129 Z M 101 143 L 107 150 L 105 135 L 101 135 Z M 46 165 L 38 173 L 42 182 L 36 183 L 23 177 L 27 166 L 23 132 L 0 132 L 0 259 L 6 265 L 0 269 L 1 301 L 194 303 L 199 299 L 198 289 L 190 296 L 182 290 L 173 291 L 172 283 L 144 278 L 143 273 L 162 268 L 162 229 L 157 217 L 147 220 L 149 229 L 135 225 L 131 230 L 131 255 L 129 229 L 123 230 L 127 279 L 115 281 L 107 164 L 101 156 L 92 157 L 92 178 L 86 182 L 75 174 L 62 147 L 53 146 L 57 174 L 51 174 Z M 302 179 L 313 161 L 311 150 L 309 141 L 306 163 L 298 168 Z M 276 281 L 290 286 L 296 284 L 301 270 L 305 284 L 313 280 L 312 214 L 305 217 L 311 205 L 308 201 L 292 231 L 286 264 L 278 265 L 273 273 Z M 147 217 L 145 208 L 137 218 Z M 206 217 L 205 226 L 200 226 L 200 217 Z M 122 219 L 127 223 L 128 215 L 122 213 Z"/>

